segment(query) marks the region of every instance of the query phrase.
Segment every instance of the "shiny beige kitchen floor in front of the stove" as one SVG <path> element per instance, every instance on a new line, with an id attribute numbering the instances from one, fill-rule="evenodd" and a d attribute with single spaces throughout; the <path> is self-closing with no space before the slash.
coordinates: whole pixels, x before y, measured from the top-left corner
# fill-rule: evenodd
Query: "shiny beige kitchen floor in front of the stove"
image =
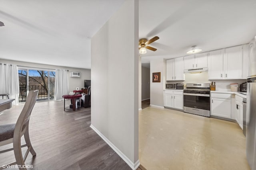
<path id="1" fill-rule="evenodd" d="M 152 106 L 139 111 L 139 156 L 147 170 L 250 170 L 237 123 Z"/>

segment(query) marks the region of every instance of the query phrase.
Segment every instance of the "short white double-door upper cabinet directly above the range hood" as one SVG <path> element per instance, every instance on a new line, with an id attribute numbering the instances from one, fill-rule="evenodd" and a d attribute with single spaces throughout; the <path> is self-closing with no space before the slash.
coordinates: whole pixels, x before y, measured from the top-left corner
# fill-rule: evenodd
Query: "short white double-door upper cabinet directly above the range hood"
<path id="1" fill-rule="evenodd" d="M 200 53 L 184 57 L 184 69 L 207 67 L 207 53 Z"/>

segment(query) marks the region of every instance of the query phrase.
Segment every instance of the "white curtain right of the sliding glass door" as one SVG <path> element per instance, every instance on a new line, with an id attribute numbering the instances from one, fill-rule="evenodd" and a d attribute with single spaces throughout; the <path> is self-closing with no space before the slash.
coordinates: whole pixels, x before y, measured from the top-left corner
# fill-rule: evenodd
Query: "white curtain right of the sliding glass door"
<path id="1" fill-rule="evenodd" d="M 68 92 L 68 70 L 56 69 L 54 100 L 63 99 Z"/>

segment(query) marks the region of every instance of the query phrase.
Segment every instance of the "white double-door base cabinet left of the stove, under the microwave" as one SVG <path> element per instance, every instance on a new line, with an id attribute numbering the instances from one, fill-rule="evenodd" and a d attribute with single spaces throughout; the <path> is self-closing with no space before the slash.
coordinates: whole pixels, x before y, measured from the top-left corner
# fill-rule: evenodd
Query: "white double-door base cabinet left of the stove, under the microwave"
<path id="1" fill-rule="evenodd" d="M 164 90 L 164 106 L 183 110 L 183 90 Z"/>

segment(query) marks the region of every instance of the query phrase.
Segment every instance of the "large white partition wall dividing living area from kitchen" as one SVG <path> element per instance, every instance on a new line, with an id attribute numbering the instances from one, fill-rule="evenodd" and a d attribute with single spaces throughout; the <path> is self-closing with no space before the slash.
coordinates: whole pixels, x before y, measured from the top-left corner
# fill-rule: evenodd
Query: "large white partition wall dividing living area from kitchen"
<path id="1" fill-rule="evenodd" d="M 92 37 L 91 54 L 91 127 L 134 169 L 139 162 L 137 0 L 125 0 Z"/>

